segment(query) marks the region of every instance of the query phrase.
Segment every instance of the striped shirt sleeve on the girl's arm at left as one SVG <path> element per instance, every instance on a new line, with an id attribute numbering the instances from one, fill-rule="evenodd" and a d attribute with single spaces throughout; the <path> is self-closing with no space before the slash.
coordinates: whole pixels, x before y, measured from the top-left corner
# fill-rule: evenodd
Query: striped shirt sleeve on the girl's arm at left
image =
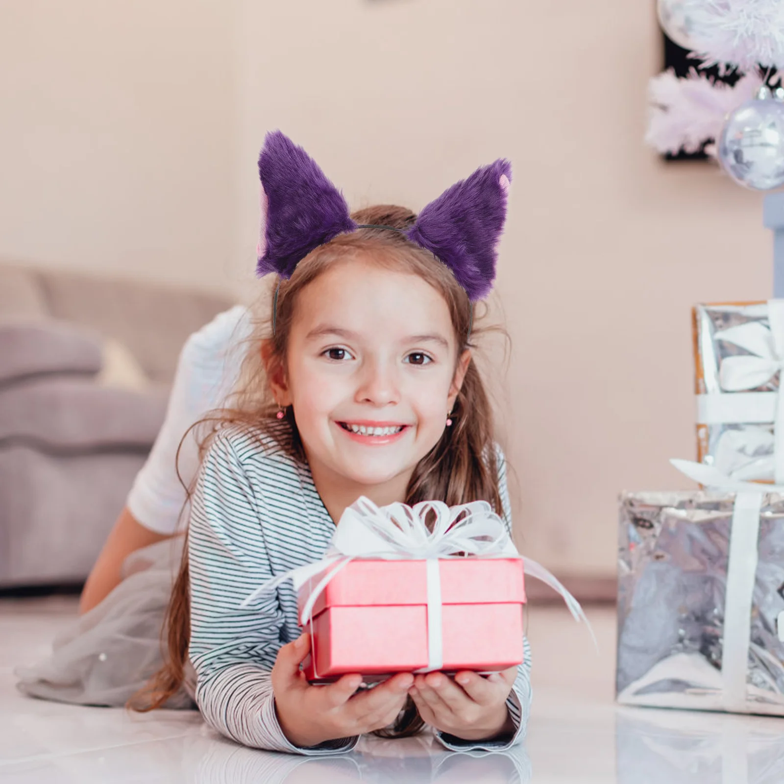
<path id="1" fill-rule="evenodd" d="M 303 749 L 278 724 L 270 677 L 284 643 L 278 596 L 239 606 L 271 576 L 259 520 L 240 456 L 230 437 L 219 434 L 201 468 L 189 529 L 196 702 L 208 724 L 245 746 L 303 754 L 348 751 L 357 738 Z"/>

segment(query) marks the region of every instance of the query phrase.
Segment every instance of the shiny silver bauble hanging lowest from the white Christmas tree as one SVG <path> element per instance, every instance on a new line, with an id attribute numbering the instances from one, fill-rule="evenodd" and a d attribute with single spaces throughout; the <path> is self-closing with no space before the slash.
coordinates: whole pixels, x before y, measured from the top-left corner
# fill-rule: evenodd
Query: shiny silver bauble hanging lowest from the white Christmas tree
<path id="1" fill-rule="evenodd" d="M 728 114 L 717 158 L 736 183 L 754 191 L 784 185 L 784 101 L 767 87 Z"/>

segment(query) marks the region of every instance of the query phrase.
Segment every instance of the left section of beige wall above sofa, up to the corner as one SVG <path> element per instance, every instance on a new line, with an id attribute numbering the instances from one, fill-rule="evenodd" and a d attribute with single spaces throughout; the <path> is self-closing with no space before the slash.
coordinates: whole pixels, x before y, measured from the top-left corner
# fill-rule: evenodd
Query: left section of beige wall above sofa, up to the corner
<path id="1" fill-rule="evenodd" d="M 231 8 L 0 3 L 0 258 L 227 288 Z"/>

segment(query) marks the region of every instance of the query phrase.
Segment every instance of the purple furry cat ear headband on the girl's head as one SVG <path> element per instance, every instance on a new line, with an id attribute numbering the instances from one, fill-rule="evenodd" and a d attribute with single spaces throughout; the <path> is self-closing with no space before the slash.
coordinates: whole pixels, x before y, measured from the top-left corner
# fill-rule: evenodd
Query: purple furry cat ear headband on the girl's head
<path id="1" fill-rule="evenodd" d="M 338 234 L 382 228 L 403 234 L 445 263 L 472 303 L 472 318 L 473 303 L 492 289 L 512 179 L 512 166 L 503 158 L 452 185 L 419 212 L 416 223 L 408 229 L 355 223 L 343 194 L 313 158 L 280 131 L 267 133 L 259 156 L 259 176 L 261 229 L 256 274 L 260 278 L 270 272 L 290 278 L 308 253 Z"/>

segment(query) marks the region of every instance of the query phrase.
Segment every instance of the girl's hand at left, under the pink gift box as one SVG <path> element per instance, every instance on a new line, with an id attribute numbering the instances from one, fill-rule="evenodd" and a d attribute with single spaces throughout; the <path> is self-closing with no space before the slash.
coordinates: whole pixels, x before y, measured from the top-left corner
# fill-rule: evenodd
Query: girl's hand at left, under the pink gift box
<path id="1" fill-rule="evenodd" d="M 278 651 L 272 690 L 278 723 L 295 746 L 318 746 L 328 740 L 363 735 L 391 724 L 400 713 L 414 677 L 400 673 L 354 696 L 361 675 L 344 675 L 328 686 L 311 686 L 299 664 L 310 651 L 310 634 L 302 634 Z"/>

